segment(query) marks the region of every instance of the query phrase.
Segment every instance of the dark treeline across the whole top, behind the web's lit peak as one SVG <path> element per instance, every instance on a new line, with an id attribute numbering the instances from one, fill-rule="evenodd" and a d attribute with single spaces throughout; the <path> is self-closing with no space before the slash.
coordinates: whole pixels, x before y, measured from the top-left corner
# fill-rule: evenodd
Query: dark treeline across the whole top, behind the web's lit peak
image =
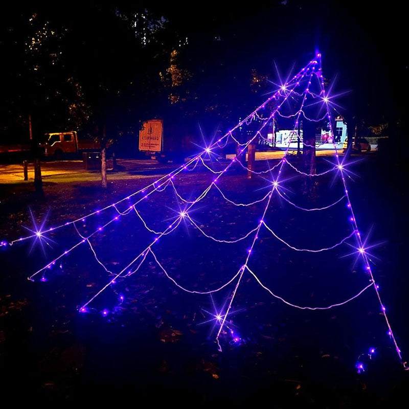
<path id="1" fill-rule="evenodd" d="M 381 10 L 363 14 L 342 5 L 9 5 L 0 17 L 0 144 L 27 141 L 30 120 L 35 139 L 105 129 L 108 138 L 134 141 L 150 118 L 163 118 L 180 138 L 203 132 L 211 139 L 316 51 L 324 56 L 328 88 L 340 94 L 341 115 L 364 126 L 403 126 L 404 90 L 395 82 L 407 57 L 387 56 L 382 46 L 402 30 L 399 18 L 393 25 L 389 18 L 399 10 L 382 11 L 379 31 Z"/>

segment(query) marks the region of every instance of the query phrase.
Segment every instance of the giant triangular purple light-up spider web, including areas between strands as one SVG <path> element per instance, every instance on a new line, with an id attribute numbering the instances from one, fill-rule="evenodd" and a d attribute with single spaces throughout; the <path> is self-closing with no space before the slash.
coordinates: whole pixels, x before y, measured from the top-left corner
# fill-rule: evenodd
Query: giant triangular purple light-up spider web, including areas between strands
<path id="1" fill-rule="evenodd" d="M 331 117 L 334 106 L 325 91 L 321 54 L 316 54 L 315 59 L 282 84 L 262 105 L 216 142 L 189 158 L 182 166 L 103 209 L 52 229 L 36 231 L 33 235 L 10 243 L 2 242 L 2 245 L 13 245 L 15 242 L 55 234 L 59 230 L 74 229 L 79 239 L 70 243 L 65 251 L 34 272 L 29 280 L 34 281 L 41 277 L 41 281 L 46 281 L 44 277 L 52 275 L 55 266 L 61 267 L 63 259 L 74 254 L 80 247 L 88 247 L 96 260 L 94 268 L 105 270 L 107 280 L 79 306 L 80 312 L 92 310 L 99 296 L 119 281 L 130 280 L 134 274 L 145 271 L 148 260 L 150 265 L 153 264 L 160 270 L 179 290 L 191 294 L 209 294 L 213 300 L 213 296 L 219 291 L 232 288 L 222 311 L 215 310 L 209 313 L 216 320 L 218 328 L 216 341 L 220 351 L 222 350 L 220 337 L 223 333 L 230 334 L 233 340 L 238 339 L 233 326 L 230 325 L 229 317 L 234 313 L 237 291 L 247 279 L 254 280 L 266 293 L 283 304 L 304 310 L 325 310 L 342 306 L 357 299 L 364 292 L 373 290 L 380 304 L 380 313 L 388 327 L 388 335 L 400 362 L 404 369 L 407 369 L 381 301 L 379 286 L 372 273 L 372 259 L 367 253 L 370 247 L 366 245 L 366 240 L 362 240 L 358 229 L 346 183 L 351 173 L 347 169 L 347 164 L 342 162 L 342 156 L 338 156 L 335 141 L 333 141 L 335 162 L 328 162 L 326 169 L 315 173 L 304 172 L 292 160 L 291 139 L 288 140 L 283 158 L 272 166 L 267 162 L 266 168 L 261 171 L 247 168 L 238 156 L 226 162 L 217 160 L 220 157 L 217 152 L 228 144 L 240 146 L 241 153 L 245 154 L 250 144 L 260 140 L 267 141 L 268 126 L 275 120 L 290 121 L 294 133 L 297 133 L 302 120 L 317 124 L 327 121 L 334 135 Z M 246 132 L 245 142 L 242 142 L 241 138 L 243 131 Z M 303 141 L 302 144 L 304 148 L 315 148 L 315 145 L 308 145 Z M 251 192 L 243 191 L 241 195 L 232 196 L 227 189 L 228 176 L 233 169 L 240 167 L 261 180 L 261 183 Z M 186 196 L 183 193 L 184 175 L 194 171 L 201 172 L 203 188 L 202 185 L 198 185 L 190 196 Z M 331 201 L 317 207 L 308 207 L 297 201 L 299 196 L 292 194 L 292 186 L 298 183 L 300 178 L 315 180 L 328 176 L 332 177 L 332 192 L 337 193 L 337 197 Z M 223 201 L 224 206 L 229 208 L 233 221 L 218 219 L 217 209 L 212 209 L 215 198 Z M 280 217 L 277 217 L 279 214 L 286 214 L 279 210 L 283 207 L 287 209 L 285 212 L 293 211 L 297 215 L 302 214 L 303 218 L 312 216 L 315 222 L 321 220 L 317 222 L 320 225 L 327 223 L 329 214 L 337 214 L 338 224 L 335 223 L 332 228 L 333 237 L 320 237 L 317 234 L 302 239 L 297 235 L 288 235 L 281 228 Z M 319 219 L 317 214 L 323 216 Z M 118 230 L 125 226 L 129 232 L 126 237 L 118 234 Z M 105 246 L 104 251 L 100 252 L 99 248 L 107 238 L 112 244 Z M 121 240 L 126 240 L 128 247 L 131 247 L 127 254 L 121 255 L 119 252 Z M 337 257 L 338 262 L 340 258 L 346 257 L 345 250 L 343 256 L 337 253 L 345 246 L 348 247 L 350 254 L 353 247 L 353 258 L 356 256 L 354 268 L 359 274 L 353 279 L 349 277 L 351 283 L 346 286 L 342 299 L 339 299 L 337 294 L 338 299 L 334 302 L 318 306 L 309 305 L 308 299 L 292 301 L 294 297 L 291 291 L 286 292 L 282 288 L 274 290 L 277 288 L 277 282 L 273 277 L 281 277 L 278 271 L 283 251 L 301 252 L 311 257 L 311 260 L 317 254 L 329 253 L 331 256 L 327 261 L 331 257 Z M 199 248 L 202 253 L 203 248 L 208 249 L 205 253 L 209 255 L 211 261 L 217 260 L 224 264 L 223 274 L 219 274 L 217 267 L 197 265 L 195 252 Z M 228 248 L 233 248 L 231 253 L 226 250 Z M 253 257 L 255 253 L 265 256 L 255 258 Z M 226 254 L 232 254 L 234 257 L 229 257 L 228 261 L 223 262 Z M 334 254 L 336 256 L 333 256 Z M 116 262 L 112 263 L 112 259 Z M 175 267 L 175 260 L 179 262 L 182 259 L 187 260 L 187 266 L 178 269 L 177 263 Z M 333 259 L 330 261 L 334 262 Z M 271 263 L 275 265 L 274 271 L 271 271 Z M 285 271 L 285 274 L 290 275 L 291 272 Z M 199 289 L 192 283 L 195 283 L 200 275 L 205 277 L 209 275 L 209 282 L 216 282 L 216 277 L 219 281 L 216 285 L 207 283 L 206 288 Z M 124 296 L 120 295 L 119 299 L 122 303 Z M 106 309 L 101 309 L 101 312 L 104 315 L 109 313 Z M 373 348 L 369 350 L 370 354 L 374 352 Z M 357 362 L 356 367 L 358 371 L 365 369 L 361 361 Z"/>

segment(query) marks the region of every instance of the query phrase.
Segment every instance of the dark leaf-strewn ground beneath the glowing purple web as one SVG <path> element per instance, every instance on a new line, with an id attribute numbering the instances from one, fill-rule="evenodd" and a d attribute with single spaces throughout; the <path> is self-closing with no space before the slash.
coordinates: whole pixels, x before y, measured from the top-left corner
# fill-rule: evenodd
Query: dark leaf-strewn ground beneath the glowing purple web
<path id="1" fill-rule="evenodd" d="M 297 158 L 292 162 L 298 165 Z M 260 163 L 256 170 L 272 165 Z M 405 158 L 373 155 L 351 164 L 346 175 L 360 232 L 373 245 L 373 274 L 403 359 L 409 349 L 407 197 L 405 185 L 390 177 L 406 175 L 405 166 Z M 317 170 L 326 167 L 324 159 L 317 162 Z M 284 175 L 286 197 L 300 207 L 339 198 L 333 175 L 306 195 L 302 177 L 290 171 Z M 42 192 L 27 184 L 0 186 L 1 240 L 25 237 L 43 222 L 48 229 L 78 220 L 49 232 L 42 246 L 23 240 L 0 247 L 3 401 L 335 408 L 391 407 L 404 398 L 408 371 L 373 288 L 330 309 L 294 307 L 336 304 L 368 283 L 346 243 L 317 255 L 294 251 L 278 239 L 297 248 L 330 247 L 351 232 L 345 206 L 305 212 L 274 197 L 264 212 L 268 196 L 235 206 L 262 199 L 271 183 L 269 172 L 248 178 L 235 166 L 217 181 L 220 190 L 213 188 L 189 212 L 194 224 L 184 219 L 168 235 L 158 235 L 215 175 L 204 166 L 184 171 L 172 179 L 179 196 L 171 185 L 153 185 L 157 190 L 141 201 L 142 193 L 130 195 L 157 177 L 110 175 L 106 189 L 99 182 L 48 183 Z M 128 214 L 135 201 L 138 212 Z M 115 208 L 102 211 L 112 203 Z M 101 212 L 82 220 L 96 210 Z M 259 232 L 248 262 L 255 275 L 246 270 L 235 291 L 254 235 L 235 241 L 260 218 L 277 237 L 267 229 Z M 159 236 L 140 266 L 142 258 L 130 263 Z M 58 258 L 84 237 L 90 237 L 89 245 Z M 87 312 L 79 313 L 108 283 Z M 233 293 L 217 342 L 220 327 L 213 318 L 225 311 Z M 357 361 L 365 364 L 360 373 Z"/>

